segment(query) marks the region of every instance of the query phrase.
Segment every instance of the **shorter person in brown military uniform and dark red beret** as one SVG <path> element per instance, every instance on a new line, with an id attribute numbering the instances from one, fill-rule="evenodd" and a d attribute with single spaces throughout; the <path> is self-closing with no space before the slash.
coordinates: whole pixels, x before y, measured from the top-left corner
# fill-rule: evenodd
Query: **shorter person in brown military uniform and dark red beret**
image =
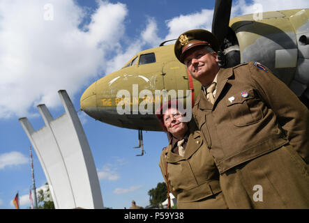
<path id="1" fill-rule="evenodd" d="M 170 101 L 165 111 L 163 107 L 157 117 L 170 140 L 159 166 L 167 189 L 177 199 L 177 208 L 227 208 L 218 169 L 200 132 L 181 122 L 183 115 Z"/>

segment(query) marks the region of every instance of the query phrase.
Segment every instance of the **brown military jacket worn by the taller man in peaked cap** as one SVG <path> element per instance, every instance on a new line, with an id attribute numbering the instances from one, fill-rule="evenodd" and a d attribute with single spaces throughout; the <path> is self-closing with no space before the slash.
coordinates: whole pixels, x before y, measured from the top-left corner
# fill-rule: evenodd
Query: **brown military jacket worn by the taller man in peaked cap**
<path id="1" fill-rule="evenodd" d="M 285 144 L 309 162 L 307 107 L 254 62 L 220 68 L 214 105 L 201 91 L 193 116 L 220 173 Z"/>

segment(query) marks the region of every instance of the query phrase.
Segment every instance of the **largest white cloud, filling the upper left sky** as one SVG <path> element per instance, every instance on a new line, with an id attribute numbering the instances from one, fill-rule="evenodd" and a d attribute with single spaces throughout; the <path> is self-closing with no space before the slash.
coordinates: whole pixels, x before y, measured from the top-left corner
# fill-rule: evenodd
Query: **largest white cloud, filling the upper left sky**
<path id="1" fill-rule="evenodd" d="M 44 20 L 46 3 L 54 20 Z M 40 103 L 61 105 L 59 89 L 74 95 L 103 72 L 128 12 L 121 3 L 98 4 L 82 31 L 85 12 L 73 0 L 0 1 L 0 118 L 29 116 Z"/>

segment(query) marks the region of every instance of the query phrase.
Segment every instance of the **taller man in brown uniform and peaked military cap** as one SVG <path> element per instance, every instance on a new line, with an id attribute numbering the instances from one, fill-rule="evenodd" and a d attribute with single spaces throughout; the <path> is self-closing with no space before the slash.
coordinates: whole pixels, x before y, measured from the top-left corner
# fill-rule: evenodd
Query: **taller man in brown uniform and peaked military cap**
<path id="1" fill-rule="evenodd" d="M 174 52 L 202 84 L 193 116 L 220 172 L 229 208 L 309 208 L 309 112 L 261 63 L 218 66 L 209 31 Z"/>

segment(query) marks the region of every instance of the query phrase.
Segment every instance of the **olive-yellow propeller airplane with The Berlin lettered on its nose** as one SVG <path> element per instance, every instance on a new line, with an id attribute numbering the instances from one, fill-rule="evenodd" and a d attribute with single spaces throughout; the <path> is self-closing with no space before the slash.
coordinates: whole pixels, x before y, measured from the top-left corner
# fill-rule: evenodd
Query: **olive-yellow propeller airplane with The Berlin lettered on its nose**
<path id="1" fill-rule="evenodd" d="M 309 9 L 255 13 L 230 20 L 231 8 L 232 0 L 217 0 L 213 13 L 211 31 L 221 43 L 220 66 L 259 61 L 309 107 Z M 201 89 L 176 59 L 174 44 L 165 42 L 137 53 L 123 68 L 91 84 L 80 99 L 82 111 L 103 123 L 139 130 L 140 141 L 142 130 L 163 131 L 155 115 L 155 103 L 162 100 L 156 90 L 183 90 L 177 98 L 191 98 L 193 103 Z M 143 90 L 152 96 L 140 95 Z M 192 94 L 186 94 L 187 90 Z M 119 91 L 127 100 L 117 97 Z M 119 113 L 119 103 L 128 105 L 130 112 Z M 136 110 L 140 103 L 150 103 L 147 109 L 152 112 L 141 114 Z"/>

